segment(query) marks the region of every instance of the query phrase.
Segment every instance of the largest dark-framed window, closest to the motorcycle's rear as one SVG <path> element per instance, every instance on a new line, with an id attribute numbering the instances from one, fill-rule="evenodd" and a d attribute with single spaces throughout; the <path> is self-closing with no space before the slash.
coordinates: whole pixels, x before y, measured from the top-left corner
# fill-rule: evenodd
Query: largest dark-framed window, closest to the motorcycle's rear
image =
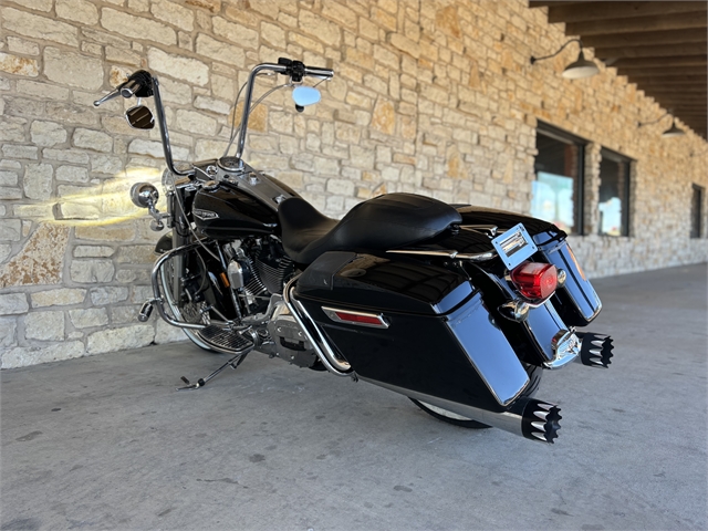
<path id="1" fill-rule="evenodd" d="M 583 233 L 585 144 L 582 138 L 539 123 L 531 216 L 551 221 L 572 235 Z"/>

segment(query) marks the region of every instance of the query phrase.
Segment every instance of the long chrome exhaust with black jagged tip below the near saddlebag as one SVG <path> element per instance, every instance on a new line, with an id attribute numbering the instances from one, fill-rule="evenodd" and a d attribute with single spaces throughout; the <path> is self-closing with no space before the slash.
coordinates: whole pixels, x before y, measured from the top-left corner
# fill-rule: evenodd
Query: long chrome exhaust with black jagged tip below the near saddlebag
<path id="1" fill-rule="evenodd" d="M 480 409 L 479 407 L 459 404 L 457 402 L 446 400 L 437 396 L 418 393 L 412 389 L 405 389 L 395 385 L 386 384 L 375 379 L 368 379 L 358 376 L 360 379 L 369 384 L 378 385 L 386 389 L 399 393 L 425 404 L 433 404 L 441 409 L 446 409 L 462 417 L 478 423 L 493 426 L 516 435 L 520 435 L 527 439 L 540 440 L 550 445 L 558 438 L 558 430 L 561 429 L 560 420 L 561 409 L 555 405 L 535 398 L 519 398 L 511 407 L 501 413 Z"/>

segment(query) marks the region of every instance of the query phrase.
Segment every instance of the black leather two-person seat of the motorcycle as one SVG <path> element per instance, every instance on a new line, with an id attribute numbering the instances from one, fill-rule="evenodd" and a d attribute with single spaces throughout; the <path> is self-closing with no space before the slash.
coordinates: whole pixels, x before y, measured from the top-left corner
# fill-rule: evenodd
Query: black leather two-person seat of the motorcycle
<path id="1" fill-rule="evenodd" d="M 462 217 L 449 205 L 415 194 L 387 194 L 361 202 L 342 220 L 327 218 L 300 197 L 280 204 L 285 252 L 312 263 L 327 251 L 388 250 L 433 238 Z"/>

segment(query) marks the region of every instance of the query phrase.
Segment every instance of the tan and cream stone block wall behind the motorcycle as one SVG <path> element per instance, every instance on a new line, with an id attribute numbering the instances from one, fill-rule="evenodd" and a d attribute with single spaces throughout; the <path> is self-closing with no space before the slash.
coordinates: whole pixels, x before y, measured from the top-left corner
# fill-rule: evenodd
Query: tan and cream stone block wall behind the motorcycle
<path id="1" fill-rule="evenodd" d="M 177 159 L 223 150 L 254 64 L 333 67 L 315 108 L 282 92 L 259 107 L 246 153 L 331 216 L 386 191 L 528 211 L 542 119 L 591 142 L 573 238 L 590 274 L 707 259 L 688 238 L 706 143 L 637 129 L 664 111 L 613 69 L 562 79 L 574 50 L 531 66 L 565 37 L 525 1 L 4 0 L 0 18 L 2 367 L 181 337 L 135 320 L 157 235 L 127 190 L 159 181 L 157 132 L 129 129 L 123 101 L 92 106 L 139 67 L 160 77 Z M 629 238 L 592 236 L 601 146 L 636 160 Z"/>

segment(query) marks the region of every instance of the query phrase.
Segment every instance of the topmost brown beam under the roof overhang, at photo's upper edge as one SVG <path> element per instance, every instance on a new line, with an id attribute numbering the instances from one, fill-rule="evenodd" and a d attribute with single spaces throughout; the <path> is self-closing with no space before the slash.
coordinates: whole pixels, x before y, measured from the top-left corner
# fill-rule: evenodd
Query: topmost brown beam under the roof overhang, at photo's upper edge
<path id="1" fill-rule="evenodd" d="M 549 3 L 549 22 L 551 23 L 665 15 L 694 12 L 697 8 L 696 2 L 586 2 L 585 6 L 566 6 L 568 2 Z"/>

